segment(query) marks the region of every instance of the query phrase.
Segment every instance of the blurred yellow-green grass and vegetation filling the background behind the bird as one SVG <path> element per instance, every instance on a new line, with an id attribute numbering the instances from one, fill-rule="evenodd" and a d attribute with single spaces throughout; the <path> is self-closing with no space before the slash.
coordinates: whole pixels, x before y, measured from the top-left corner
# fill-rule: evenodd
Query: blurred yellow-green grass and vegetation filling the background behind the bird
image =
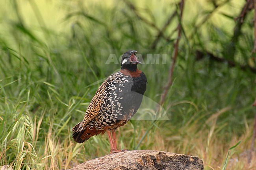
<path id="1" fill-rule="evenodd" d="M 255 114 L 255 73 L 246 69 L 255 67 L 254 11 L 232 42 L 234 18 L 246 1 L 187 0 L 182 19 L 174 15 L 154 45 L 159 29 L 179 11 L 178 3 L 1 0 L 0 166 L 58 170 L 109 154 L 106 134 L 77 144 L 70 131 L 83 119 L 102 79 L 120 68 L 106 64 L 109 54 L 119 57 L 135 49 L 144 61 L 147 51 L 167 54 L 166 64 L 138 66 L 148 79 L 145 96 L 158 103 L 181 21 L 173 84 L 163 104 L 170 120 L 128 122 L 117 131 L 118 147 L 195 155 L 206 170 L 254 169 L 256 163 L 249 167 L 241 156 L 250 149 Z M 237 65 L 215 62 L 209 55 L 198 60 L 197 50 Z M 139 114 L 155 113 L 157 106 L 148 103 Z"/>

